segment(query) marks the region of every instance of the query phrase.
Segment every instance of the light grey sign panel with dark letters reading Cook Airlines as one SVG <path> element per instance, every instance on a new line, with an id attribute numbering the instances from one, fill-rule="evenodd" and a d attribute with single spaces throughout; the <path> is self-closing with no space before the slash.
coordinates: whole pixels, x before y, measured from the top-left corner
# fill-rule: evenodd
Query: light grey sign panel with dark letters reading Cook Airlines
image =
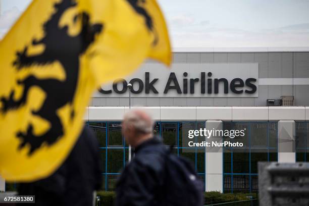
<path id="1" fill-rule="evenodd" d="M 257 97 L 258 64 L 144 64 L 128 78 L 102 85 L 95 97 Z"/>

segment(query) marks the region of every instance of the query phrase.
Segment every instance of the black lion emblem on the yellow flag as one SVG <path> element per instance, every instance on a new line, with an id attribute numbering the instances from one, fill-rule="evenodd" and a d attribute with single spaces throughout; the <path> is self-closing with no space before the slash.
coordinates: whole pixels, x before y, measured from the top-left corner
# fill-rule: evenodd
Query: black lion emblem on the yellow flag
<path id="1" fill-rule="evenodd" d="M 145 18 L 145 25 L 149 31 L 153 30 L 151 17 L 147 14 L 139 3 L 145 3 L 144 0 L 127 0 L 136 13 Z M 44 37 L 42 39 L 32 40 L 31 45 L 44 45 L 44 50 L 38 55 L 28 55 L 29 45 L 26 45 L 22 51 L 16 52 L 16 60 L 12 63 L 17 71 L 27 69 L 31 66 L 44 66 L 59 62 L 65 71 L 65 80 L 55 78 L 38 78 L 35 75 L 29 75 L 24 79 L 17 80 L 17 84 L 23 86 L 23 92 L 19 99 L 15 99 L 15 90 L 13 89 L 9 96 L 1 96 L 1 111 L 5 114 L 10 110 L 16 110 L 27 102 L 29 90 L 33 86 L 39 87 L 46 94 L 42 106 L 32 114 L 39 116 L 50 123 L 49 129 L 41 135 L 34 134 L 34 126 L 29 123 L 26 131 L 18 131 L 16 137 L 21 139 L 19 149 L 25 145 L 30 145 L 28 155 L 38 149 L 44 142 L 47 145 L 54 144 L 64 135 L 64 128 L 57 110 L 70 105 L 71 118 L 74 117 L 73 100 L 76 93 L 80 62 L 79 58 L 87 50 L 89 45 L 94 42 L 96 34 L 102 32 L 103 24 L 91 24 L 90 16 L 86 12 L 78 13 L 73 19 L 73 23 L 81 21 L 80 32 L 75 36 L 68 34 L 68 26 L 59 28 L 59 22 L 63 14 L 71 8 L 77 6 L 74 0 L 62 0 L 55 4 L 55 13 L 43 24 Z"/>

